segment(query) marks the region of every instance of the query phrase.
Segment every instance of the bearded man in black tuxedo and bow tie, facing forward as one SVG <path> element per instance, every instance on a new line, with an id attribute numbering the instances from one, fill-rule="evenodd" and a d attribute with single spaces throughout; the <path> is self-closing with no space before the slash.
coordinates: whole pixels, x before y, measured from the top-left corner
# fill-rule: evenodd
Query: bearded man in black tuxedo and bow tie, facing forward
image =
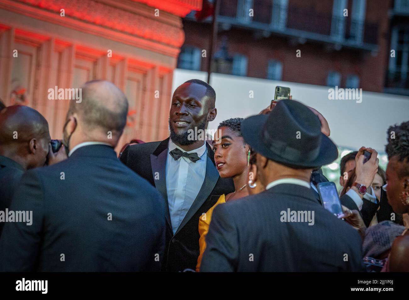
<path id="1" fill-rule="evenodd" d="M 195 269 L 199 217 L 220 195 L 234 191 L 231 178 L 219 177 L 214 153 L 205 142 L 207 124 L 216 118 L 215 100 L 216 93 L 209 84 L 188 80 L 173 93 L 169 111 L 171 136 L 159 142 L 128 146 L 120 158 L 165 199 L 163 271 Z"/>

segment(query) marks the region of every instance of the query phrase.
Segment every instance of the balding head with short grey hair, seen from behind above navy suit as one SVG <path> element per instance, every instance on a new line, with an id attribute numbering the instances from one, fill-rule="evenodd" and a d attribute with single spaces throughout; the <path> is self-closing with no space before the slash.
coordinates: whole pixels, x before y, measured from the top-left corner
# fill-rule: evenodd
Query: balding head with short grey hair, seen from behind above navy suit
<path id="1" fill-rule="evenodd" d="M 82 101 L 72 101 L 67 117 L 77 113 L 85 130 L 122 132 L 128 114 L 128 100 L 115 84 L 92 80 L 82 87 Z"/>

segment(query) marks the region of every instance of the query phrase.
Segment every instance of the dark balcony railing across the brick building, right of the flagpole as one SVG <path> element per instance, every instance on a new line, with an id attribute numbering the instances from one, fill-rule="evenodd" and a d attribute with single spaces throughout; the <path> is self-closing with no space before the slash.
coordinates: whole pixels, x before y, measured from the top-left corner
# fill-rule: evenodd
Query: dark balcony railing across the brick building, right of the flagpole
<path id="1" fill-rule="evenodd" d="M 249 9 L 254 16 L 249 16 Z M 254 27 L 265 31 L 278 31 L 305 38 L 328 40 L 356 47 L 378 44 L 378 24 L 351 18 L 336 17 L 332 13 L 319 13 L 314 9 L 301 9 L 273 4 L 272 0 L 221 0 L 220 21 Z"/>

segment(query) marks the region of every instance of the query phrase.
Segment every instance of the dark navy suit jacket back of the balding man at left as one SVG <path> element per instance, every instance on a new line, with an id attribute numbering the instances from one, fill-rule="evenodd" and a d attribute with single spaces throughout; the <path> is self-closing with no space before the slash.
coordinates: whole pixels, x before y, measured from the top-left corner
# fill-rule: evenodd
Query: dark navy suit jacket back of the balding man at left
<path id="1" fill-rule="evenodd" d="M 5 224 L 2 271 L 160 270 L 162 196 L 112 147 L 84 146 L 58 164 L 27 171 L 11 209 L 33 211 L 32 224 Z"/>

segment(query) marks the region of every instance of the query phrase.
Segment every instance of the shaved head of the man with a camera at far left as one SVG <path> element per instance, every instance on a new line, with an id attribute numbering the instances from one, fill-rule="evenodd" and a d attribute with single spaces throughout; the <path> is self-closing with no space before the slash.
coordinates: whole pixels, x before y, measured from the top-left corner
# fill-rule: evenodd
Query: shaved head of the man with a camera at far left
<path id="1" fill-rule="evenodd" d="M 47 120 L 35 109 L 13 105 L 0 111 L 0 154 L 26 169 L 45 163 L 50 135 Z"/>

